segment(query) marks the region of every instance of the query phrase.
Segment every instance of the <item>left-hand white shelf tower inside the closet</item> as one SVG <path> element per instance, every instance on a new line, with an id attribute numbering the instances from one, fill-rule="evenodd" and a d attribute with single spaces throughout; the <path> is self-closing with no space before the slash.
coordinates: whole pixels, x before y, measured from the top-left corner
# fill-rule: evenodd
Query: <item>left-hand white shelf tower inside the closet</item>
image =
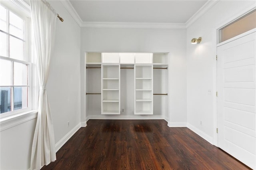
<path id="1" fill-rule="evenodd" d="M 120 65 L 102 64 L 101 114 L 120 114 Z"/>

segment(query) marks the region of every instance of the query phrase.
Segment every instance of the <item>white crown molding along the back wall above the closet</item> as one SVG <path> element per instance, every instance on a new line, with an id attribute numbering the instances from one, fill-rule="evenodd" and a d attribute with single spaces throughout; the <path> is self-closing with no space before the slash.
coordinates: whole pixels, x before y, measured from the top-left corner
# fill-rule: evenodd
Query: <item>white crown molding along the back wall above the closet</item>
<path id="1" fill-rule="evenodd" d="M 82 28 L 186 29 L 183 23 L 82 22 Z"/>

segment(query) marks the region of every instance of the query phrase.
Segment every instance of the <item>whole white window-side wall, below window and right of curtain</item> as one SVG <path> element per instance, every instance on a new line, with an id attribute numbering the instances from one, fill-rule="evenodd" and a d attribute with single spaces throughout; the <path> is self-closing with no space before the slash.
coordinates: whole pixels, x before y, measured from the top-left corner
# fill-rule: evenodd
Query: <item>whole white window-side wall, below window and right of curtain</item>
<path id="1" fill-rule="evenodd" d="M 55 50 L 46 86 L 57 144 L 80 125 L 80 27 L 60 1 L 50 4 L 64 19 L 56 21 Z M 32 119 L 0 132 L 0 169 L 30 168 L 35 125 L 36 119 Z"/>

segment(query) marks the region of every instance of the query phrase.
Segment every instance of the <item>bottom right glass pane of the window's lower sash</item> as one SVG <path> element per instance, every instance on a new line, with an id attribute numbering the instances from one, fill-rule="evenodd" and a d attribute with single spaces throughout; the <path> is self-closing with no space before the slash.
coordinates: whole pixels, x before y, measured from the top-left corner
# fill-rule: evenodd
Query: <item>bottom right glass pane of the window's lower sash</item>
<path id="1" fill-rule="evenodd" d="M 28 87 L 14 87 L 14 110 L 28 107 Z"/>

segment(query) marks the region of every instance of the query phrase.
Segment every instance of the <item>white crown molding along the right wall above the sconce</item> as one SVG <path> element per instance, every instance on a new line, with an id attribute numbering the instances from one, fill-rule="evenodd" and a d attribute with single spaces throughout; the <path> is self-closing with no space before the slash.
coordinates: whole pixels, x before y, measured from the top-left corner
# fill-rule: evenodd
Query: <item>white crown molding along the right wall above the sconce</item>
<path id="1" fill-rule="evenodd" d="M 217 4 L 220 0 L 208 0 L 192 17 L 185 23 L 186 28 L 196 22 L 202 15 L 204 15 L 210 8 Z"/>

